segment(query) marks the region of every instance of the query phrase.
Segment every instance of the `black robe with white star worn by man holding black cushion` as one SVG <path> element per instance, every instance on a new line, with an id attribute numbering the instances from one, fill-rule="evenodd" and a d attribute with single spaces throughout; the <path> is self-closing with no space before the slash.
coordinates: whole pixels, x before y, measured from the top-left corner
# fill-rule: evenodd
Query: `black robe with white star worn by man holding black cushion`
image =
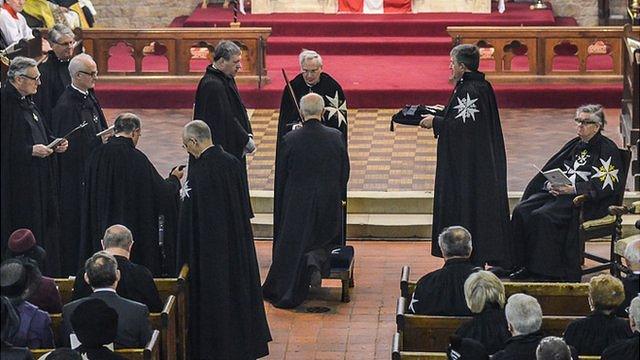
<path id="1" fill-rule="evenodd" d="M 498 105 L 480 72 L 466 72 L 447 107 L 433 120 L 438 138 L 431 254 L 441 257 L 438 235 L 452 225 L 473 237 L 476 264 L 508 264 L 507 161 Z"/>

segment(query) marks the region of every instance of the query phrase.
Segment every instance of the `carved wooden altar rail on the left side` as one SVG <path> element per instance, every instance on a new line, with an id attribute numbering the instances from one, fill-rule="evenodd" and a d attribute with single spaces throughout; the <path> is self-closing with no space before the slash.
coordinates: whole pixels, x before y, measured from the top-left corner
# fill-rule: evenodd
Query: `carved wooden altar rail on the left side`
<path id="1" fill-rule="evenodd" d="M 101 82 L 197 81 L 211 62 L 213 47 L 220 40 L 233 40 L 242 49 L 236 81 L 261 85 L 269 82 L 265 65 L 270 34 L 271 28 L 84 29 L 81 37 Z"/>

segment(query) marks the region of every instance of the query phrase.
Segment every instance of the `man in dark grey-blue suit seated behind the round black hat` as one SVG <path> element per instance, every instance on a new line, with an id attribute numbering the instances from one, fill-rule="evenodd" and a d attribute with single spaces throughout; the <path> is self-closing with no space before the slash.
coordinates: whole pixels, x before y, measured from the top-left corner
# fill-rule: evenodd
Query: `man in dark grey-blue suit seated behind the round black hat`
<path id="1" fill-rule="evenodd" d="M 70 344 L 73 326 L 71 318 L 77 307 L 90 299 L 101 299 L 118 313 L 118 331 L 115 346 L 122 348 L 144 347 L 151 337 L 149 310 L 144 304 L 120 297 L 116 293 L 120 271 L 113 255 L 99 251 L 85 263 L 85 280 L 93 293 L 86 298 L 72 301 L 62 308 L 63 344 Z"/>

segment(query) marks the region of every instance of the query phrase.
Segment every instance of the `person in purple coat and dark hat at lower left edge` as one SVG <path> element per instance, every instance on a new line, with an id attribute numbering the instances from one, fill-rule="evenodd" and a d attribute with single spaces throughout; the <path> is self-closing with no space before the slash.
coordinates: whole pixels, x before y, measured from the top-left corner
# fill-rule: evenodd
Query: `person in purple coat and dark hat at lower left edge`
<path id="1" fill-rule="evenodd" d="M 11 301 L 20 317 L 20 328 L 11 342 L 15 346 L 54 347 L 49 314 L 25 300 L 33 293 L 40 277 L 38 267 L 29 261 L 8 259 L 0 265 L 2 295 Z"/>

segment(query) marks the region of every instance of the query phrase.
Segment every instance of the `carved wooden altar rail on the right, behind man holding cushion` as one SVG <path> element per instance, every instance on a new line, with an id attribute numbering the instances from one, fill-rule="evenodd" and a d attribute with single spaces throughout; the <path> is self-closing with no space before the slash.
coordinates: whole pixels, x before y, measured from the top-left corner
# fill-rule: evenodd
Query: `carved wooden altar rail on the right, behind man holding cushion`
<path id="1" fill-rule="evenodd" d="M 622 26 L 449 26 L 447 31 L 454 45 L 481 48 L 481 63 L 495 63 L 483 69 L 494 81 L 622 81 Z"/>

